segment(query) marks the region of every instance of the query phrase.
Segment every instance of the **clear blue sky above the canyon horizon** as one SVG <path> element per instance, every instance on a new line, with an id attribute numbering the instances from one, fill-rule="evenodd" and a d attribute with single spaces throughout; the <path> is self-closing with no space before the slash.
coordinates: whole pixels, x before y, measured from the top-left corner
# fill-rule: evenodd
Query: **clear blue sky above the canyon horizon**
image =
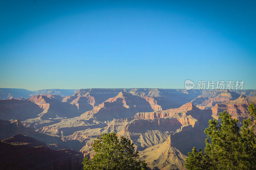
<path id="1" fill-rule="evenodd" d="M 0 87 L 256 89 L 256 1 L 0 2 Z"/>

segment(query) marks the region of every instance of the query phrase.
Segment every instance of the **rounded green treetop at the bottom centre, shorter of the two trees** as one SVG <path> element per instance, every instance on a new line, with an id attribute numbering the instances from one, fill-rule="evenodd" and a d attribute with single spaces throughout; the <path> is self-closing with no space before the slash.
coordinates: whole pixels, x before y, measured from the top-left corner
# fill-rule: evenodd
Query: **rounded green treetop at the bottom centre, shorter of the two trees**
<path id="1" fill-rule="evenodd" d="M 138 160 L 131 141 L 125 137 L 119 140 L 115 133 L 102 134 L 92 147 L 96 154 L 91 160 L 84 158 L 84 170 L 149 169 L 144 161 Z"/>

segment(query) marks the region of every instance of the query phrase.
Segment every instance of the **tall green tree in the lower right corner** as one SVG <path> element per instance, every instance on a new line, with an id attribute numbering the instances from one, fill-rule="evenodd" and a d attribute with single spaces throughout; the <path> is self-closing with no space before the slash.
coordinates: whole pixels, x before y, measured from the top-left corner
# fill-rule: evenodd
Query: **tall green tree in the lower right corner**
<path id="1" fill-rule="evenodd" d="M 248 107 L 250 116 L 255 120 L 256 109 Z M 221 124 L 215 119 L 209 120 L 204 152 L 200 149 L 188 153 L 186 167 L 193 170 L 215 169 L 256 169 L 255 123 L 250 118 L 243 121 L 241 132 L 237 119 L 232 119 L 226 111 L 219 113 Z M 211 141 L 209 141 L 209 138 Z"/>

